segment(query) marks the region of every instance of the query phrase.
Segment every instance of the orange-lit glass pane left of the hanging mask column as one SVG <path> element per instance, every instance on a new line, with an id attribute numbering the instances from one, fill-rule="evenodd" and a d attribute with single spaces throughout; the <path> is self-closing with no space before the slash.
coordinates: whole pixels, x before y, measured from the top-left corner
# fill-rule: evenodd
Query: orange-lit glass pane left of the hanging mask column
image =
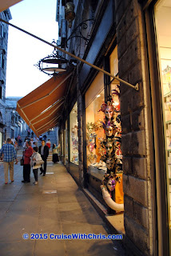
<path id="1" fill-rule="evenodd" d="M 103 113 L 99 111 L 103 103 L 105 103 L 104 75 L 99 73 L 85 94 L 87 166 L 93 164 L 97 166 L 103 154 L 100 146 L 101 138 L 104 138 L 104 130 L 101 127 Z"/>

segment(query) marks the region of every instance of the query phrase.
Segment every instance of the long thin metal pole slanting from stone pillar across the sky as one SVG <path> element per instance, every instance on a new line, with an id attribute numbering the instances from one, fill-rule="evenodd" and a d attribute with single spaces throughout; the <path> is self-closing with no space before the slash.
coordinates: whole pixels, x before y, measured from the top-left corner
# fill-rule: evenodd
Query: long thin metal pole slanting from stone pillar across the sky
<path id="1" fill-rule="evenodd" d="M 95 66 L 95 65 L 93 65 L 93 64 L 91 64 L 91 63 L 89 63 L 89 62 L 86 62 L 84 59 L 79 58 L 78 56 L 76 56 L 76 55 L 74 55 L 74 54 L 71 54 L 70 52 L 68 52 L 68 51 L 66 51 L 66 50 L 63 50 L 62 48 L 60 48 L 60 47 L 58 47 L 58 46 L 54 46 L 52 43 L 47 42 L 46 40 L 44 40 L 44 39 L 42 39 L 42 38 L 38 38 L 38 36 L 36 36 L 36 35 L 34 35 L 34 34 L 31 34 L 30 32 L 28 32 L 28 31 L 26 31 L 26 30 L 22 30 L 20 27 L 15 26 L 15 25 L 11 24 L 10 22 L 4 21 L 2 18 L 0 18 L 0 22 L 4 22 L 4 23 L 6 23 L 7 25 L 13 26 L 15 29 L 20 30 L 20 31 L 22 31 L 22 32 L 24 32 L 24 33 L 26 33 L 26 34 L 29 34 L 31 37 L 36 38 L 36 39 L 38 39 L 39 41 L 45 42 L 45 43 L 46 43 L 47 45 L 49 45 L 49 46 L 53 46 L 54 48 L 56 48 L 56 49 L 62 51 L 64 54 L 70 55 L 72 58 L 76 58 L 76 59 L 78 59 L 78 61 L 83 62 L 83 63 L 85 63 L 85 64 L 87 64 L 87 65 L 93 67 L 95 70 L 101 71 L 101 72 L 103 72 L 104 74 L 109 75 L 109 77 L 115 78 L 115 79 L 118 80 L 119 82 L 123 82 L 125 85 L 127 85 L 127 86 L 129 86 L 129 87 L 132 87 L 132 88 L 135 89 L 135 90 L 139 90 L 139 88 L 138 88 L 138 87 L 139 87 L 139 86 L 138 86 L 138 83 L 136 84 L 136 86 L 133 86 L 133 85 L 131 85 L 129 82 L 125 82 L 125 81 L 122 80 L 121 78 L 117 78 L 117 77 L 115 77 L 113 74 L 110 74 L 109 72 L 107 72 L 107 71 L 105 71 L 105 70 L 101 70 L 101 68 L 99 68 L 98 66 Z"/>

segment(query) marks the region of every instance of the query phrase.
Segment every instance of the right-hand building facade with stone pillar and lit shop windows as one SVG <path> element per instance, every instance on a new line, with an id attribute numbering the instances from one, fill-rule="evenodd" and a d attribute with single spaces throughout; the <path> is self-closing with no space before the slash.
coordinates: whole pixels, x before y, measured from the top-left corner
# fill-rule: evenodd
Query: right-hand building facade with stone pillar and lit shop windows
<path id="1" fill-rule="evenodd" d="M 105 205 L 100 186 L 106 165 L 99 168 L 99 163 L 106 154 L 101 138 L 108 140 L 109 134 L 101 128 L 106 114 L 101 105 L 113 97 L 121 112 L 121 149 L 115 160 L 124 192 L 123 242 L 133 255 L 171 255 L 170 1 L 73 3 L 71 28 L 68 1 L 57 5 L 62 48 L 139 88 L 77 62 L 59 131 L 62 160 L 80 186 Z M 83 21 L 86 25 L 79 26 Z M 112 197 L 121 204 L 118 191 Z"/>

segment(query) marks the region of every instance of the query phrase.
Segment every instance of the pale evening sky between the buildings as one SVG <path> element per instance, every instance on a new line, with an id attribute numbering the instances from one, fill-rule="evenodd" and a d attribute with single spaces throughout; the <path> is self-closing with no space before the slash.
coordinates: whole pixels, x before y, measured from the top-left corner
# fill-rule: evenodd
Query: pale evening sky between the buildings
<path id="1" fill-rule="evenodd" d="M 23 0 L 10 7 L 10 23 L 52 42 L 58 40 L 57 0 Z M 50 79 L 34 66 L 54 48 L 9 26 L 6 97 L 23 97 Z"/>

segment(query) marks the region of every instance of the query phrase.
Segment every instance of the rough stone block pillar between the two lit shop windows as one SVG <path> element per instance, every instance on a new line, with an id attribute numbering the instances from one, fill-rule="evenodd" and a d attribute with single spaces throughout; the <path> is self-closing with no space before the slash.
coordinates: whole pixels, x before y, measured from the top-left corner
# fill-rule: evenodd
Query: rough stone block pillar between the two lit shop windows
<path id="1" fill-rule="evenodd" d="M 115 0 L 119 77 L 139 91 L 121 84 L 123 187 L 125 193 L 125 242 L 143 255 L 153 254 L 150 219 L 153 196 L 149 170 L 149 120 L 145 77 L 145 36 L 137 0 Z M 153 234 L 154 235 L 154 234 Z M 132 248 L 133 249 L 133 248 Z M 136 252 L 135 252 L 136 254 Z"/>

